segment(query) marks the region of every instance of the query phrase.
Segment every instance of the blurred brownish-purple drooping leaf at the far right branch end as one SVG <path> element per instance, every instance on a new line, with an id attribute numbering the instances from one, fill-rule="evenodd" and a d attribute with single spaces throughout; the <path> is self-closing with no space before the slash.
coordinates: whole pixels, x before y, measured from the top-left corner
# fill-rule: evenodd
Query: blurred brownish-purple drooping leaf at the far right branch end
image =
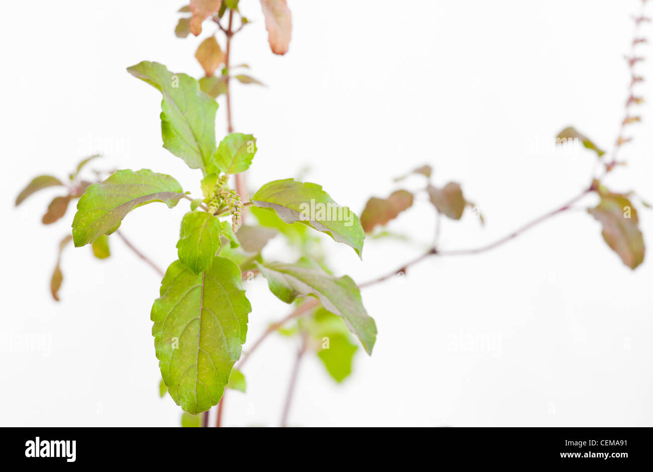
<path id="1" fill-rule="evenodd" d="M 621 194 L 603 194 L 601 201 L 588 212 L 603 225 L 603 239 L 624 264 L 635 269 L 644 261 L 645 246 L 638 228 L 637 211 Z"/>

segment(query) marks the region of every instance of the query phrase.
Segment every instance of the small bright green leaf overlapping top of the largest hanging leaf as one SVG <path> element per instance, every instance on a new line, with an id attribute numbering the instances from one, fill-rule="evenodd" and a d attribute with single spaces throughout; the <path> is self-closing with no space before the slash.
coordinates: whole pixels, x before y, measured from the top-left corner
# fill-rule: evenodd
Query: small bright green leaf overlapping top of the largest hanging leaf
<path id="1" fill-rule="evenodd" d="M 177 254 L 196 274 L 208 269 L 220 248 L 220 220 L 204 211 L 186 213 L 177 243 Z"/>

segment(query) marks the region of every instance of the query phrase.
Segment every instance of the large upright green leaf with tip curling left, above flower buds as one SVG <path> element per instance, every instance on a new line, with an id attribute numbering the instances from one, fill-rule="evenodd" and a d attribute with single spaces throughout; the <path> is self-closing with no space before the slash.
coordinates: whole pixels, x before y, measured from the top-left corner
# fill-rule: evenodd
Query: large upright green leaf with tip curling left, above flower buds
<path id="1" fill-rule="evenodd" d="M 200 90 L 193 77 L 172 74 L 165 65 L 156 62 L 143 61 L 127 71 L 163 95 L 163 147 L 182 158 L 191 169 L 206 173 L 215 152 L 215 100 Z"/>

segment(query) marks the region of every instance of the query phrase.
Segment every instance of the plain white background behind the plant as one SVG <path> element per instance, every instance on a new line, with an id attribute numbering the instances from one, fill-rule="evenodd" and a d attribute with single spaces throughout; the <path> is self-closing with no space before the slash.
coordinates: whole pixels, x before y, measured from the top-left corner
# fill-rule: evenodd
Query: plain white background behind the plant
<path id="1" fill-rule="evenodd" d="M 552 152 L 573 125 L 610 148 L 623 116 L 623 59 L 639 0 L 289 1 L 290 52 L 273 56 L 259 2 L 233 43 L 268 88 L 236 84 L 236 131 L 254 133 L 255 190 L 275 178 L 322 184 L 361 211 L 387 196 L 392 178 L 431 163 L 434 182 L 462 183 L 486 217 L 445 221 L 442 248 L 489 243 L 560 205 L 588 182 L 596 160 L 575 148 Z M 57 190 L 15 209 L 39 173 L 65 177 L 101 150 L 95 167 L 170 173 L 199 195 L 199 171 L 161 147 L 161 95 L 125 68 L 144 59 L 201 75 L 202 37 L 177 39 L 182 1 L 39 1 L 3 6 L 2 316 L 5 337 L 46 335 L 52 352 L 0 352 L 3 426 L 176 426 L 180 409 L 158 396 L 150 307 L 159 277 L 116 237 L 113 256 L 67 248 L 61 302 L 48 286 L 65 219 L 40 218 Z M 338 5 L 341 5 L 338 7 Z M 653 14 L 653 12 L 651 12 Z M 653 38 L 652 27 L 645 25 Z M 643 49 L 650 55 L 650 48 Z M 650 62 L 640 71 L 653 79 Z M 641 86 L 653 97 L 651 81 Z M 220 101 L 218 136 L 225 129 Z M 653 109 L 630 131 L 629 161 L 607 181 L 653 200 Z M 404 186 L 417 189 L 419 178 Z M 187 202 L 186 202 L 187 203 Z M 584 206 L 596 203 L 588 197 Z M 582 205 L 581 205 L 582 206 Z M 154 204 L 121 230 L 159 265 L 176 258 L 178 222 Z M 653 244 L 653 215 L 640 211 Z M 338 274 L 368 280 L 407 261 L 432 239 L 424 199 L 391 228 L 412 244 L 368 241 L 364 260 L 325 238 Z M 274 258 L 272 244 L 265 256 Z M 478 256 L 425 261 L 406 277 L 366 289 L 379 335 L 371 357 L 338 386 L 317 358 L 302 365 L 291 424 L 302 426 L 652 426 L 653 265 L 630 271 L 607 248 L 586 212 L 567 212 Z M 248 343 L 289 307 L 259 280 Z M 465 349 L 458 341 L 492 339 Z M 296 346 L 272 336 L 244 369 L 247 394 L 230 392 L 227 425 L 276 426 Z M 361 350 L 362 351 L 362 350 Z"/>

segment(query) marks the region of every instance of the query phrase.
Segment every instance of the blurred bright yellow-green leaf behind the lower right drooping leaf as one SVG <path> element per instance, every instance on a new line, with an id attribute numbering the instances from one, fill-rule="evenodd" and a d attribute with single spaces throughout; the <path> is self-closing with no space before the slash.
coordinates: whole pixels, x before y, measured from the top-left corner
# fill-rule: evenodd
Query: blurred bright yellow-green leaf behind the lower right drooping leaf
<path id="1" fill-rule="evenodd" d="M 314 340 L 317 356 L 328 374 L 340 383 L 351 374 L 351 366 L 358 345 L 340 316 L 324 308 L 317 309 L 302 326 Z"/>

